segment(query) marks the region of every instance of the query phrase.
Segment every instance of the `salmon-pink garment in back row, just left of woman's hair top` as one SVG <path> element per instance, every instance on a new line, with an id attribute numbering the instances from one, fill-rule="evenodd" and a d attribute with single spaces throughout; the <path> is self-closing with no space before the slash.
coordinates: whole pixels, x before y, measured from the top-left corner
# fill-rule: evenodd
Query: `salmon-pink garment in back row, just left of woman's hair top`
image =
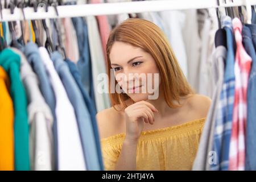
<path id="1" fill-rule="evenodd" d="M 92 0 L 91 3 L 101 3 L 100 0 Z M 101 35 L 101 43 L 104 51 L 104 57 L 105 57 L 105 62 L 106 64 L 108 63 L 108 59 L 106 56 L 106 43 L 108 42 L 109 34 L 110 34 L 110 27 L 109 27 L 109 22 L 108 18 L 106 15 L 100 15 L 96 16 L 98 20 L 98 26 L 100 29 L 100 35 Z"/>

